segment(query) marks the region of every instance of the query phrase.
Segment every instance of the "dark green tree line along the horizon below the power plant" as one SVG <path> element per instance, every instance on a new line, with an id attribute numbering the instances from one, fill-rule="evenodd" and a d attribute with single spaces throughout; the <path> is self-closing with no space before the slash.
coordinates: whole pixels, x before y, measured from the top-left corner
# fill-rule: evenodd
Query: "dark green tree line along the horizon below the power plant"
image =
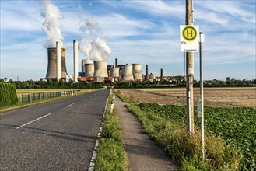
<path id="1" fill-rule="evenodd" d="M 0 82 L 7 82 L 7 78 L 0 79 Z M 173 76 L 164 81 L 148 80 L 144 82 L 56 82 L 56 81 L 12 81 L 16 89 L 97 89 L 103 86 L 116 86 L 117 88 L 168 88 L 168 87 L 186 87 L 186 77 L 184 76 Z M 200 86 L 200 81 L 194 80 L 194 87 Z M 249 87 L 256 86 L 256 79 L 230 79 L 227 77 L 225 81 L 221 80 L 205 80 L 205 87 Z"/>

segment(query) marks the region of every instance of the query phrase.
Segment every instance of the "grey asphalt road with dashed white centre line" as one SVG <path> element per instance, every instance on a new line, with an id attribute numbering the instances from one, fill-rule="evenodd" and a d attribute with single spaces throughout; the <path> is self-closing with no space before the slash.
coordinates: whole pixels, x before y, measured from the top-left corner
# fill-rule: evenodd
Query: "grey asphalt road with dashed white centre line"
<path id="1" fill-rule="evenodd" d="M 87 170 L 109 89 L 0 116 L 0 170 Z"/>

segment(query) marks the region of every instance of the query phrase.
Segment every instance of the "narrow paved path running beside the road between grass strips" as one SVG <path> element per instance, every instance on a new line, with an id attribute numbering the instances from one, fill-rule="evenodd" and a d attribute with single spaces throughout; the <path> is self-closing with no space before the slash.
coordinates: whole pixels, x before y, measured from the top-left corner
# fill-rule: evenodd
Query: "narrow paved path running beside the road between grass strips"
<path id="1" fill-rule="evenodd" d="M 116 96 L 117 116 L 121 124 L 124 148 L 128 155 L 128 166 L 131 171 L 141 170 L 175 170 L 174 164 L 164 152 L 142 133 L 142 124 L 126 108 L 126 103 Z"/>

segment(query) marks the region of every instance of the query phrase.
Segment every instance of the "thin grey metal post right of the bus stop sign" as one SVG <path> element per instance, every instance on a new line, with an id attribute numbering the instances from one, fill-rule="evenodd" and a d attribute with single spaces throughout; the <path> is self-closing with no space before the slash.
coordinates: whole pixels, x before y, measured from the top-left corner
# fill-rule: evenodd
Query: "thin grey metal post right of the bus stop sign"
<path id="1" fill-rule="evenodd" d="M 198 99 L 198 115 L 201 114 L 201 143 L 202 143 L 202 159 L 205 160 L 205 131 L 204 131 L 204 81 L 202 71 L 202 43 L 205 37 L 201 32 L 198 36 L 199 54 L 200 54 L 200 98 Z M 200 111 L 201 110 L 201 111 Z"/>

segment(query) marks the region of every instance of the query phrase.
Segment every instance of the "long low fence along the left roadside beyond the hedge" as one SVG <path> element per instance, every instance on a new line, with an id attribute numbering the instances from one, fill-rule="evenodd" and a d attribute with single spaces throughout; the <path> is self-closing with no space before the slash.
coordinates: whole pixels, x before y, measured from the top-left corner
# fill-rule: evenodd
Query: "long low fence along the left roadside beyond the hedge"
<path id="1" fill-rule="evenodd" d="M 36 93 L 27 93 L 27 94 L 18 94 L 19 103 L 30 103 L 39 101 L 41 99 L 51 99 L 61 96 L 73 96 L 79 93 L 80 90 L 70 90 L 63 92 L 36 92 Z"/>

